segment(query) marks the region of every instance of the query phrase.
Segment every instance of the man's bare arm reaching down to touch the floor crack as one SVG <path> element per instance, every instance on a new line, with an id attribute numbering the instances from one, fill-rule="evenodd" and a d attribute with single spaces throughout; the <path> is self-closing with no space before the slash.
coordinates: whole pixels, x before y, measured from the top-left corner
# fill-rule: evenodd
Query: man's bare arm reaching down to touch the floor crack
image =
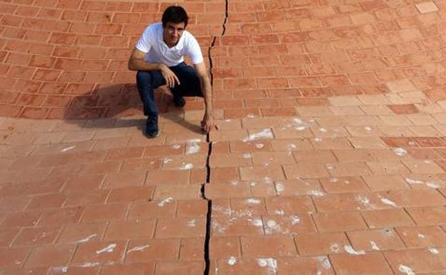
<path id="1" fill-rule="evenodd" d="M 202 129 L 204 131 L 211 131 L 215 127 L 214 122 L 214 109 L 212 108 L 212 86 L 209 76 L 207 75 L 206 65 L 204 62 L 194 64 L 195 71 L 200 81 L 200 88 L 202 89 L 204 97 L 204 117 L 202 121 Z"/>

